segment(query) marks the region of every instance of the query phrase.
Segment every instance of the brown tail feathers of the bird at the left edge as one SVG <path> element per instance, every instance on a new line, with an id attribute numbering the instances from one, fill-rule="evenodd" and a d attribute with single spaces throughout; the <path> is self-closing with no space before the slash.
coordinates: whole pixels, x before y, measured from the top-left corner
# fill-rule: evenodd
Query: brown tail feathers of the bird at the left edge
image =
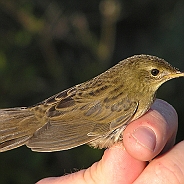
<path id="1" fill-rule="evenodd" d="M 0 152 L 24 145 L 38 124 L 28 108 L 0 109 Z"/>

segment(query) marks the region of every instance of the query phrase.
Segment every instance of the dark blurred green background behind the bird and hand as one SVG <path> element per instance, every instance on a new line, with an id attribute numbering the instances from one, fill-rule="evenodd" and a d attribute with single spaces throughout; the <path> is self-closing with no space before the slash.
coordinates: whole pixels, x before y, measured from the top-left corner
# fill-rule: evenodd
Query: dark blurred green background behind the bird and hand
<path id="1" fill-rule="evenodd" d="M 134 54 L 162 57 L 184 69 L 183 0 L 0 1 L 0 108 L 29 106 L 86 81 Z M 184 80 L 157 97 L 179 114 L 184 138 Z M 35 153 L 25 146 L 0 153 L 0 183 L 31 184 L 98 161 L 88 146 Z"/>

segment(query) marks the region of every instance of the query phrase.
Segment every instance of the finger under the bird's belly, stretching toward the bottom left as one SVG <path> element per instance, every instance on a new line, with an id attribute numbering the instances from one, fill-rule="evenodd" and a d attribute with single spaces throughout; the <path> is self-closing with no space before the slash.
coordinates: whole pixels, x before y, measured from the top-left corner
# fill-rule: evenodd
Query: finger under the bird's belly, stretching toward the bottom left
<path id="1" fill-rule="evenodd" d="M 43 179 L 37 184 L 132 184 L 145 166 L 146 162 L 131 157 L 123 144 L 118 143 L 105 150 L 102 159 L 90 168 L 62 177 Z"/>

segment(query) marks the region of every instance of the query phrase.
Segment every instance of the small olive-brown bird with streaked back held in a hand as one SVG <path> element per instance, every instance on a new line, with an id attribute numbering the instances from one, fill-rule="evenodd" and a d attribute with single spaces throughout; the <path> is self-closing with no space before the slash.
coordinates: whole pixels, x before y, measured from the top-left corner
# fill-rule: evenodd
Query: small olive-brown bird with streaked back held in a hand
<path id="1" fill-rule="evenodd" d="M 161 84 L 183 76 L 163 59 L 136 55 L 39 104 L 2 109 L 0 152 L 24 144 L 40 152 L 110 147 L 149 110 Z"/>

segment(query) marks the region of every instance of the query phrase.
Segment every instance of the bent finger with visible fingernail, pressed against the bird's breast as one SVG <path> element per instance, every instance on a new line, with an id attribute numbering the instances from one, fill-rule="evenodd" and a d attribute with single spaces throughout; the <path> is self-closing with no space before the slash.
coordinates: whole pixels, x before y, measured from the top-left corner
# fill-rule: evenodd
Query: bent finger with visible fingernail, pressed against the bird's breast
<path id="1" fill-rule="evenodd" d="M 123 133 L 124 146 L 132 157 L 142 161 L 151 160 L 164 147 L 168 150 L 173 146 L 177 124 L 174 108 L 157 99 L 144 116 L 127 126 Z"/>

